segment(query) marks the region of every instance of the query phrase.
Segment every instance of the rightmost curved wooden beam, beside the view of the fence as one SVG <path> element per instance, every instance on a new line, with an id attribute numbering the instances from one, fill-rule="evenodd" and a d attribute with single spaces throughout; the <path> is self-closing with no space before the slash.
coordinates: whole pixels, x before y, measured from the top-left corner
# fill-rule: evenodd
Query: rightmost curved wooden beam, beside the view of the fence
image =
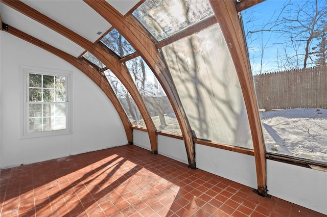
<path id="1" fill-rule="evenodd" d="M 266 196 L 266 147 L 241 22 L 238 18 L 234 1 L 209 0 L 209 2 L 215 12 L 224 38 L 229 44 L 228 49 L 239 77 L 253 141 L 258 194 Z"/>

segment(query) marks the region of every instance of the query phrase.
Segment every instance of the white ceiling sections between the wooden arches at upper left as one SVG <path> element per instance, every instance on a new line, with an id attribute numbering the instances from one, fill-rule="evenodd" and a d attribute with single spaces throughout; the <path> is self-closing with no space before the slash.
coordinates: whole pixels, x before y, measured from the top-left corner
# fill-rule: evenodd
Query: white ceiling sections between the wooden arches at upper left
<path id="1" fill-rule="evenodd" d="M 82 0 L 23 0 L 22 2 L 91 42 L 97 41 L 111 27 L 110 23 Z M 138 0 L 107 2 L 125 15 L 138 3 Z M 85 51 L 69 39 L 2 3 L 0 4 L 0 13 L 6 24 L 74 57 L 79 57 Z M 99 35 L 98 32 L 101 34 Z"/>

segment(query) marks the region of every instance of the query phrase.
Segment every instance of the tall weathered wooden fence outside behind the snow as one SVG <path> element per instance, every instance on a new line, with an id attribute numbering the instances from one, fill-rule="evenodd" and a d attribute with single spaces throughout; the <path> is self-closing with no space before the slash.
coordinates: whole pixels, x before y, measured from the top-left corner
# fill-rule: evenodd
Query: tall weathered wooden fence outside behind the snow
<path id="1" fill-rule="evenodd" d="M 327 68 L 271 72 L 253 76 L 259 108 L 326 108 Z"/>

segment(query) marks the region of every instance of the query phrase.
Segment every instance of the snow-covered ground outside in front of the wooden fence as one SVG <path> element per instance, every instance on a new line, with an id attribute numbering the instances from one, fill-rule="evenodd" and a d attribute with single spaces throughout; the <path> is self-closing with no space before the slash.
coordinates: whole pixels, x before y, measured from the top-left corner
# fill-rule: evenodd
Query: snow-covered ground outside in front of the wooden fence
<path id="1" fill-rule="evenodd" d="M 267 152 L 327 162 L 327 110 L 260 112 Z"/>

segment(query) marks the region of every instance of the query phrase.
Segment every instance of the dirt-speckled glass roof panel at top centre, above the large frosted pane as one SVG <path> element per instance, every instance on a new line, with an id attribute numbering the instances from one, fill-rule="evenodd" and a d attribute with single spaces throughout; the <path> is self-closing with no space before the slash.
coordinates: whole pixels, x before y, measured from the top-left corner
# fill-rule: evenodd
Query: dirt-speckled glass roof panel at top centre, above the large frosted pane
<path id="1" fill-rule="evenodd" d="M 147 0 L 133 15 L 158 40 L 214 15 L 207 0 Z"/>

